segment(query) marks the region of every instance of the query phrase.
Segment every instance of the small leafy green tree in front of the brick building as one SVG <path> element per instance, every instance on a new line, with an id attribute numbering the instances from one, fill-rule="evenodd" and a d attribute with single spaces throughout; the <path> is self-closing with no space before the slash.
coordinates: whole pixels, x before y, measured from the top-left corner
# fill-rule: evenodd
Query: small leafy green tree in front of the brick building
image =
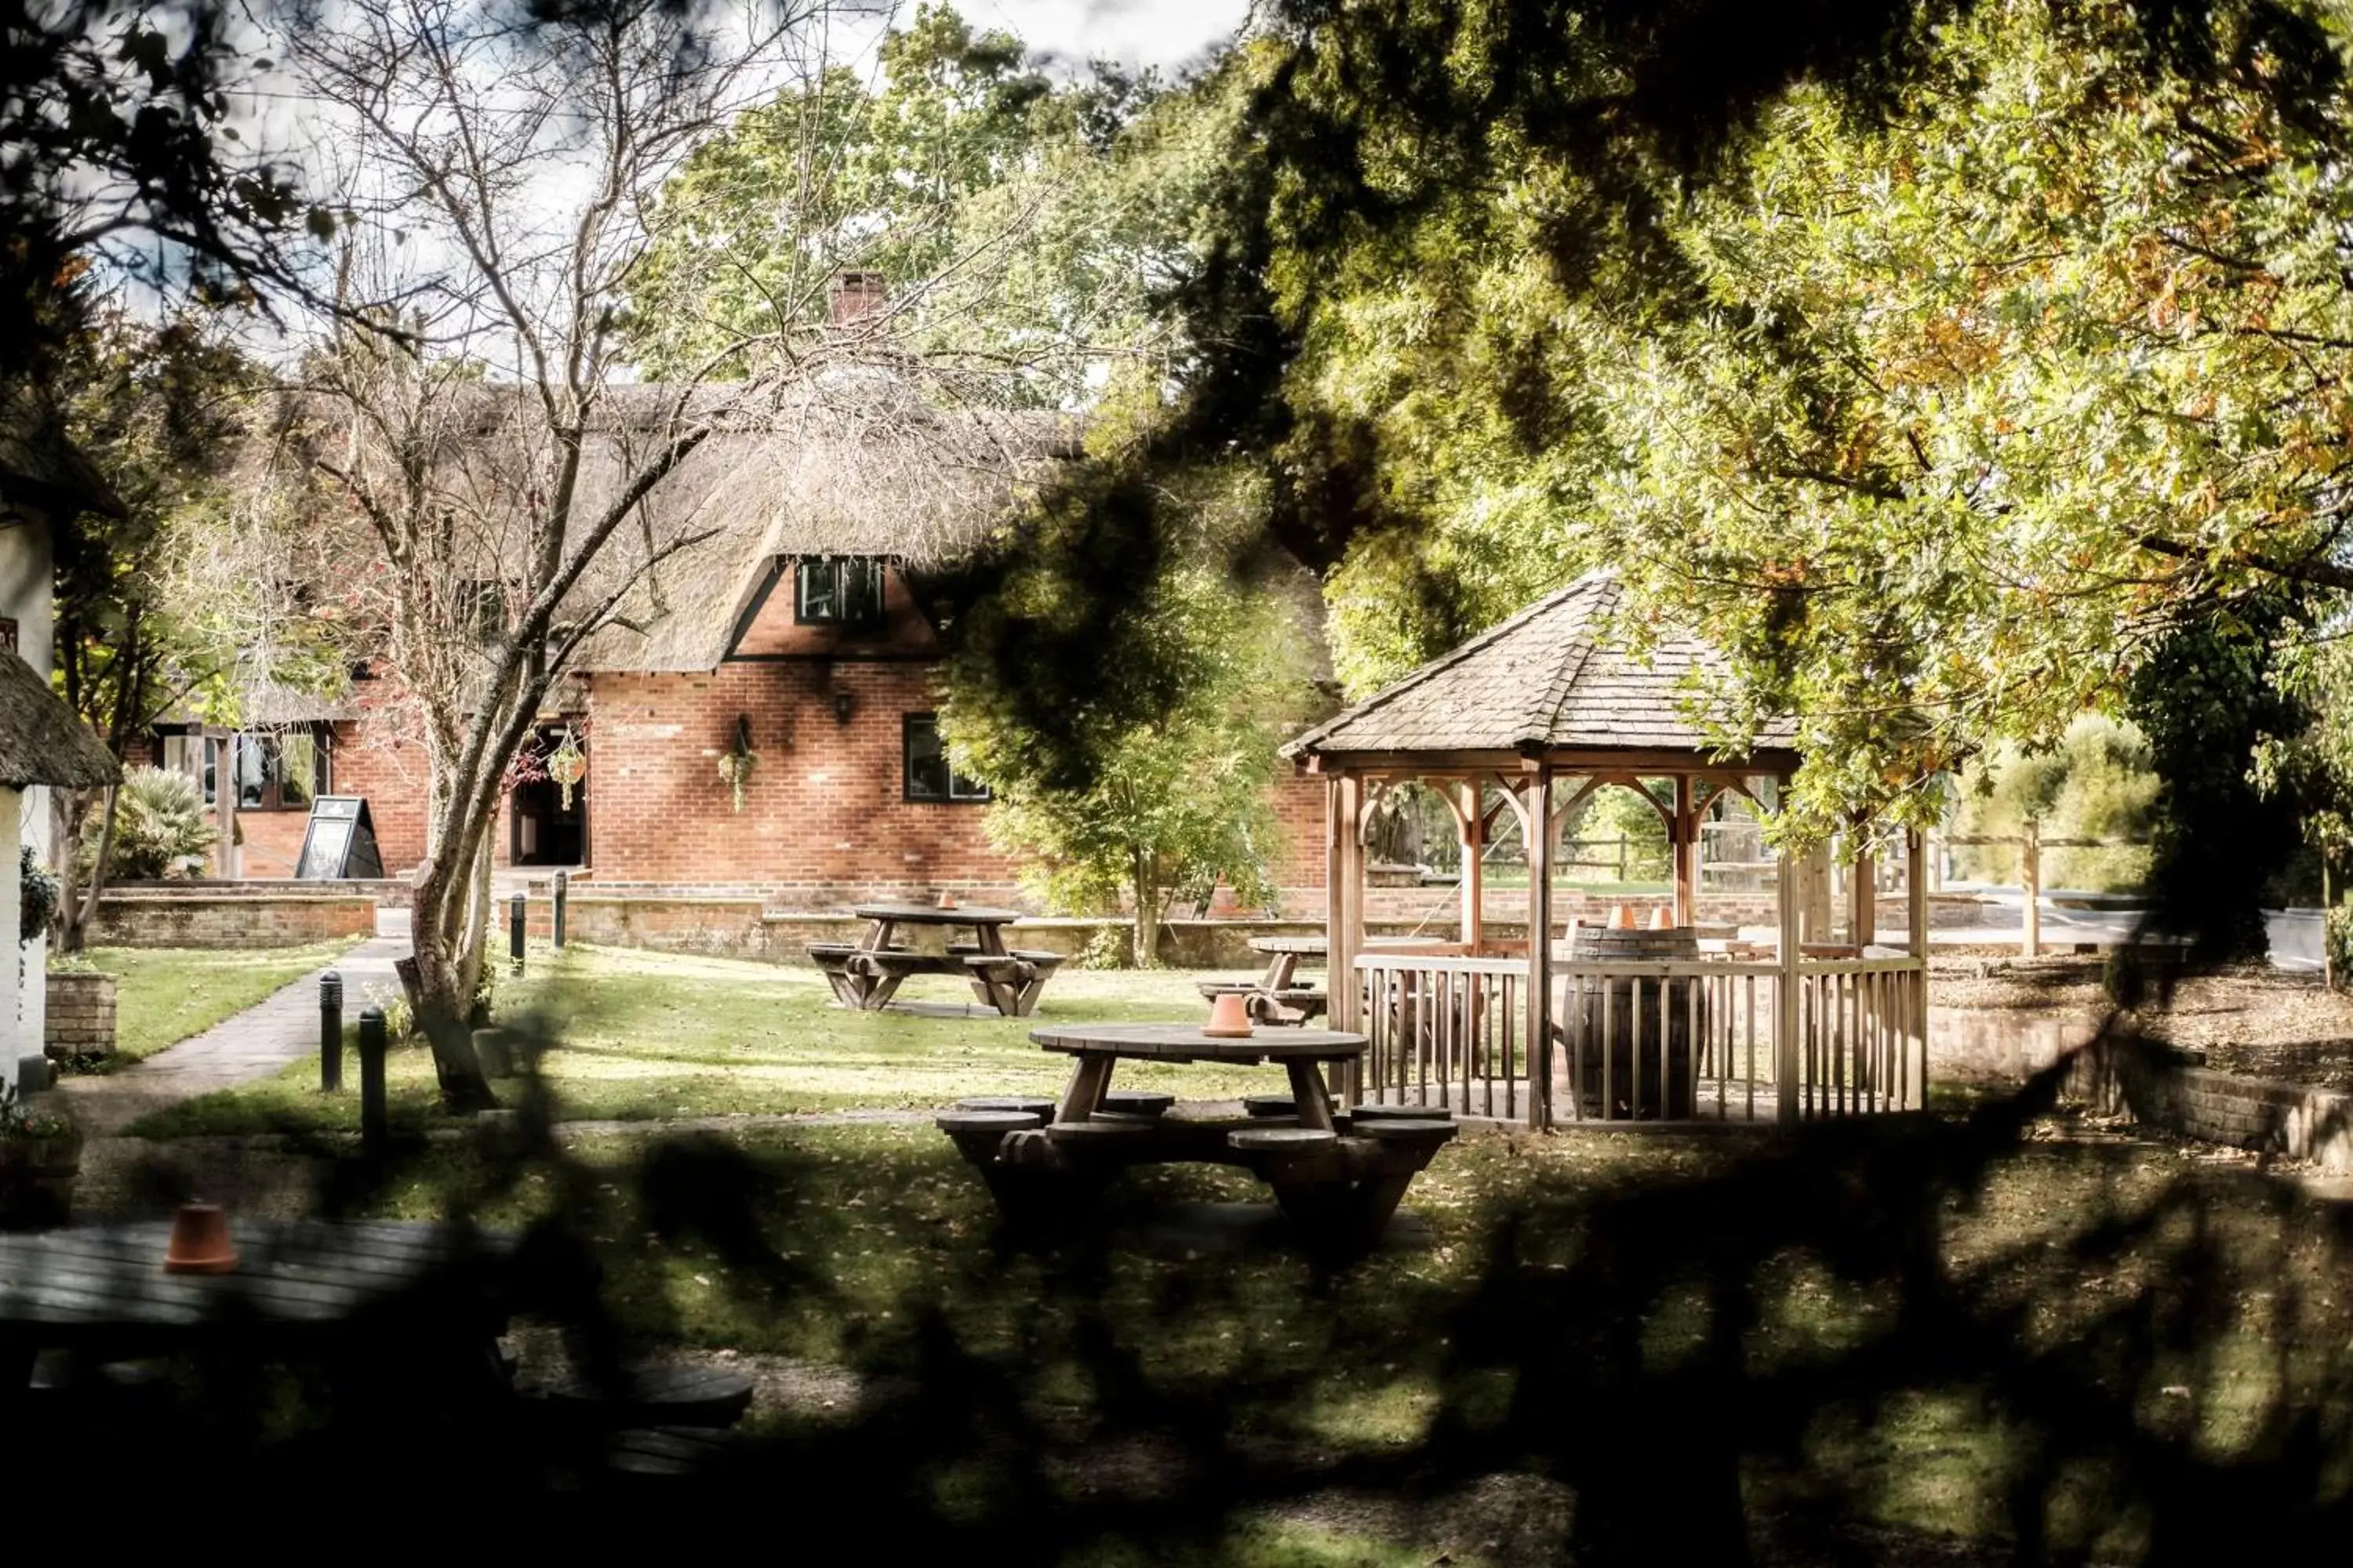
<path id="1" fill-rule="evenodd" d="M 1224 555 L 1261 505 L 1247 475 L 1205 473 L 1181 494 L 1134 487 L 1115 505 L 1059 501 L 965 623 L 941 726 L 958 769 L 995 795 L 991 839 L 1056 910 L 1125 898 L 1148 966 L 1176 891 L 1205 896 L 1224 875 L 1242 903 L 1266 896 L 1266 785 L 1282 726 L 1304 712 L 1301 644 L 1287 604 L 1235 581 Z M 1089 559 L 1106 517 L 1160 564 L 1120 604 L 1113 637 L 1059 665 L 1047 649 L 1096 623 L 1087 571 L 1127 571 Z M 1026 722 L 1040 701 L 1066 703 L 1061 733 Z"/>

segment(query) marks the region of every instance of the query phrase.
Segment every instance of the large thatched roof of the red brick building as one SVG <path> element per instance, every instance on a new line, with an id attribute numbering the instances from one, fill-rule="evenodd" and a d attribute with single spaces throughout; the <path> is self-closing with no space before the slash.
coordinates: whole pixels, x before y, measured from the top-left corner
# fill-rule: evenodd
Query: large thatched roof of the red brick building
<path id="1" fill-rule="evenodd" d="M 546 433 L 522 388 L 445 390 L 431 433 L 435 489 L 466 531 L 459 576 L 520 576 L 525 517 L 541 503 Z M 308 477 L 304 451 L 348 463 L 351 407 L 287 395 L 275 430 L 254 442 L 254 484 Z M 711 670 L 776 557 L 878 555 L 901 567 L 969 559 L 1014 494 L 1075 451 L 1068 416 L 941 407 L 875 367 L 828 371 L 781 397 L 666 386 L 600 388 L 574 520 L 595 517 L 680 423 L 715 423 L 605 545 L 574 595 L 576 614 L 626 588 L 619 623 L 574 656 L 574 670 Z M 322 517 L 336 524 L 341 508 Z M 685 543 L 680 543 L 685 541 Z"/>

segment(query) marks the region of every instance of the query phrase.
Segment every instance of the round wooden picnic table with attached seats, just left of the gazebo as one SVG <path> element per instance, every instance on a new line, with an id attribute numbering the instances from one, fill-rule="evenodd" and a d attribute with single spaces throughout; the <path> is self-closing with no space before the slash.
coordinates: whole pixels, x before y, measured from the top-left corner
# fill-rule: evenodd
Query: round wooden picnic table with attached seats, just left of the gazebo
<path id="1" fill-rule="evenodd" d="M 1054 1220 L 1127 1166 L 1207 1161 L 1252 1171 L 1304 1241 L 1346 1251 L 1381 1237 L 1414 1175 L 1457 1135 L 1445 1110 L 1334 1110 L 1325 1070 L 1358 1063 L 1362 1034 L 1299 1027 L 1228 1039 L 1193 1025 L 1064 1025 L 1031 1039 L 1075 1058 L 1059 1105 L 967 1100 L 934 1119 L 1014 1222 Z M 1122 1060 L 1280 1063 L 1292 1093 L 1254 1095 L 1242 1117 L 1224 1117 L 1172 1095 L 1113 1091 Z"/>

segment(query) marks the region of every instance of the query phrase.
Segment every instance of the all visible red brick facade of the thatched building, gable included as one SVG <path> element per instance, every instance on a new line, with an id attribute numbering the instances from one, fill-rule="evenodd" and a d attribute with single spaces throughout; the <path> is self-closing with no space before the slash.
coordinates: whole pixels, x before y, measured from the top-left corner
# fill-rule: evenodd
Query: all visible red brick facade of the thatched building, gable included
<path id="1" fill-rule="evenodd" d="M 939 708 L 939 639 L 896 574 L 871 630 L 802 625 L 786 567 L 746 618 L 736 654 L 708 672 L 612 672 L 574 679 L 586 719 L 588 884 L 744 893 L 767 907 L 828 910 L 861 898 L 1019 903 L 1019 863 L 998 853 L 976 802 L 911 802 L 906 717 Z M 391 691 L 391 682 L 381 684 Z M 362 705 L 376 691 L 362 689 Z M 847 717 L 840 703 L 847 698 Z M 732 809 L 718 762 L 736 719 L 758 755 Z M 334 724 L 334 792 L 367 799 L 386 872 L 424 858 L 426 757 L 391 710 Z M 1322 910 L 1325 785 L 1285 769 L 1273 785 L 1278 907 Z M 245 875 L 287 877 L 306 816 L 245 823 Z M 515 835 L 501 811 L 494 858 Z"/>

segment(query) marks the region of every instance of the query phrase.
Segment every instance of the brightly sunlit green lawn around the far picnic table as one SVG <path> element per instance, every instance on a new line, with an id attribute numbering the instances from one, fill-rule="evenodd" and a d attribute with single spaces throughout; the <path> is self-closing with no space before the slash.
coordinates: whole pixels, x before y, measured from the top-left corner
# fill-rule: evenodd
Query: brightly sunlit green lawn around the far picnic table
<path id="1" fill-rule="evenodd" d="M 567 1119 L 642 1121 L 744 1112 L 922 1110 L 984 1093 L 1056 1093 L 1066 1056 L 1031 1044 L 1047 1020 L 1146 1023 L 1200 1018 L 1191 971 L 1071 971 L 1047 985 L 1038 1018 L 854 1013 L 833 1004 L 814 969 L 638 950 L 534 947 L 522 980 L 501 978 L 501 1020 L 555 1039 L 541 1060 Z M 1240 978 L 1240 971 L 1228 978 Z M 918 976 L 901 999 L 969 1001 L 951 976 Z M 304 1058 L 275 1079 L 205 1095 L 141 1121 L 141 1135 L 358 1128 L 355 1072 L 346 1093 L 318 1093 Z M 1266 1070 L 1122 1065 L 1125 1088 L 1186 1098 L 1280 1093 Z M 393 1051 L 393 1117 L 433 1121 L 433 1063 L 421 1044 Z"/>

